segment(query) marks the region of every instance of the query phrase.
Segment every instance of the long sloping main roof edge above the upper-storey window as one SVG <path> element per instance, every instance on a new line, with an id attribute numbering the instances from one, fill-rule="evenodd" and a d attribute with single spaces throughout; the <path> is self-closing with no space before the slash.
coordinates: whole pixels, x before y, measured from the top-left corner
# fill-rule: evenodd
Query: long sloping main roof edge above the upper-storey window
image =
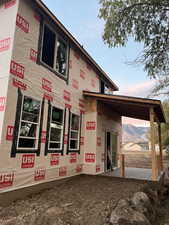
<path id="1" fill-rule="evenodd" d="M 103 71 L 103 69 L 95 62 L 95 60 L 89 55 L 89 53 L 83 48 L 83 46 L 73 37 L 73 35 L 65 28 L 65 26 L 56 18 L 56 16 L 47 8 L 47 6 L 41 0 L 33 0 L 38 7 L 52 19 L 52 21 L 64 32 L 68 39 L 77 47 L 80 53 L 86 58 L 88 63 L 95 68 L 98 75 L 103 78 L 105 82 L 112 88 L 113 91 L 118 91 L 117 85 L 110 79 L 110 77 Z"/>

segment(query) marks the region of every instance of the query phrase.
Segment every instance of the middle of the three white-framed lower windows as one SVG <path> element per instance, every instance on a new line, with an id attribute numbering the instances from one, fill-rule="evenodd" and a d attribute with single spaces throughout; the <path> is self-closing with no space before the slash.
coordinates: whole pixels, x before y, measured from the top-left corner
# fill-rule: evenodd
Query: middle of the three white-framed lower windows
<path id="1" fill-rule="evenodd" d="M 63 110 L 51 108 L 49 150 L 61 150 L 63 142 Z"/>

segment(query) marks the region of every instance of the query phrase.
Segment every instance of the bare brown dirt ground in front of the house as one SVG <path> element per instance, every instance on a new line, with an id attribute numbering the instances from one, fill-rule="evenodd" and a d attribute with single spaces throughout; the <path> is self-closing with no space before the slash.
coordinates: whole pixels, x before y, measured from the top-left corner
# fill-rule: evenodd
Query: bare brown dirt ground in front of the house
<path id="1" fill-rule="evenodd" d="M 105 225 L 117 202 L 146 181 L 81 175 L 0 208 L 0 225 Z"/>

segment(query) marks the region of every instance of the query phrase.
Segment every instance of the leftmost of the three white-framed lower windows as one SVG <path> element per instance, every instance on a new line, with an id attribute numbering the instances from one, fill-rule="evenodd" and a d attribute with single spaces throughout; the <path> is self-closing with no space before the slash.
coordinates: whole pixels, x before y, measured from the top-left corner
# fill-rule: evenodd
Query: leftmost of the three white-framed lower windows
<path id="1" fill-rule="evenodd" d="M 18 134 L 18 149 L 37 149 L 41 102 L 24 96 Z"/>

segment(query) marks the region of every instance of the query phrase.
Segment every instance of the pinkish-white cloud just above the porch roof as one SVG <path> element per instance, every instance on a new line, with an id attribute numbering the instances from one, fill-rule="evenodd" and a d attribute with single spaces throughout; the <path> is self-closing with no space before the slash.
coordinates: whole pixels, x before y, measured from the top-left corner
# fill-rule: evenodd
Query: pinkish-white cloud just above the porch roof
<path id="1" fill-rule="evenodd" d="M 118 94 L 146 98 L 151 94 L 155 82 L 155 80 L 150 80 L 143 83 L 132 84 L 132 86 L 122 89 Z"/>

